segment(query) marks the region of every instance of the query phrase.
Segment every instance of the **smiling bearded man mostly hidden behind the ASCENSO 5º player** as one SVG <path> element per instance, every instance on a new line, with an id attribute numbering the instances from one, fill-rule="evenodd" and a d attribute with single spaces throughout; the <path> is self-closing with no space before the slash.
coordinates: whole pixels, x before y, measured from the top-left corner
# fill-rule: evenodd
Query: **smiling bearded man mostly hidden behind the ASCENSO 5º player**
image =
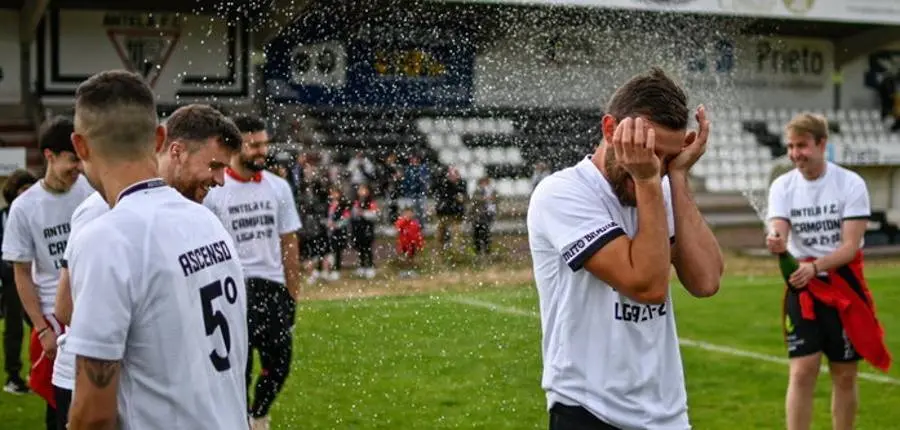
<path id="1" fill-rule="evenodd" d="M 234 123 L 208 105 L 182 106 L 166 122 L 166 144 L 156 157 L 159 176 L 183 196 L 202 202 L 207 190 L 224 181 L 225 166 L 241 145 L 241 135 Z M 109 211 L 109 204 L 99 192 L 85 199 L 72 214 L 70 238 L 87 223 Z M 66 248 L 68 260 L 72 248 Z M 60 270 L 55 316 L 68 325 L 72 313 L 72 294 L 68 264 Z M 71 390 L 75 379 L 75 356 L 66 350 L 65 334 L 59 337 L 59 348 L 53 365 L 53 384 Z M 61 413 L 67 412 L 61 410 Z M 59 419 L 66 421 L 66 416 Z"/>

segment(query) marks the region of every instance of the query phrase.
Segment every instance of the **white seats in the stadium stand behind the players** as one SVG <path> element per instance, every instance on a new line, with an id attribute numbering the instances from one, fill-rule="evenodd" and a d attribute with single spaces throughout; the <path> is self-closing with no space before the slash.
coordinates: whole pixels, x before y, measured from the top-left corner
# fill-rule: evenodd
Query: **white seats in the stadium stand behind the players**
<path id="1" fill-rule="evenodd" d="M 749 131 L 746 125 L 760 124 L 763 133 L 767 132 L 771 139 L 780 140 L 783 146 L 783 127 L 799 112 L 795 109 L 736 108 L 711 113 L 713 126 L 708 152 L 695 167 L 694 176 L 705 185 L 706 191 L 714 193 L 767 188 L 774 164 L 773 154 L 783 153 L 783 150 L 777 148 L 777 143 L 776 148 L 765 146 L 760 142 L 759 132 Z M 900 134 L 889 131 L 877 110 L 822 109 L 815 113 L 825 115 L 840 130 L 831 134 L 832 143 L 859 147 L 900 145 Z M 440 163 L 454 165 L 460 170 L 470 191 L 474 189 L 478 179 L 486 174 L 487 166 L 532 167 L 526 166 L 528 161 L 523 157 L 523 149 L 517 146 L 469 147 L 463 143 L 464 136 L 525 135 L 526 132 L 518 129 L 518 124 L 511 119 L 499 116 L 423 117 L 416 121 L 416 128 L 426 137 L 428 147 L 437 154 Z M 532 156 L 532 161 L 533 158 Z M 493 179 L 501 196 L 525 197 L 531 192 L 530 178 Z"/>

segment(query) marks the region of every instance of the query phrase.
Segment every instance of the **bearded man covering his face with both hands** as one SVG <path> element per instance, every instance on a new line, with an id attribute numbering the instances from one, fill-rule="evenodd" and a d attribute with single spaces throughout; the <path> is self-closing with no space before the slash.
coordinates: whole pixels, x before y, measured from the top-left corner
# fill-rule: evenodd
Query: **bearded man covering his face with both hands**
<path id="1" fill-rule="evenodd" d="M 593 155 L 536 187 L 529 246 L 551 430 L 690 429 L 670 266 L 696 297 L 718 291 L 722 254 L 688 186 L 705 151 L 687 96 L 653 69 L 612 96 Z"/>

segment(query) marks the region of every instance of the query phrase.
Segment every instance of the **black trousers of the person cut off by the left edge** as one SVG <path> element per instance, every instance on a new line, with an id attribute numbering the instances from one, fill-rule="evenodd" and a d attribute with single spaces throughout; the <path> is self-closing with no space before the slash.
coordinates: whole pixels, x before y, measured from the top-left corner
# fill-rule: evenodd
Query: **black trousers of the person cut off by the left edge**
<path id="1" fill-rule="evenodd" d="M 0 282 L 3 283 L 3 314 L 6 326 L 3 329 L 3 367 L 6 377 L 21 378 L 22 371 L 22 341 L 25 337 L 25 323 L 27 321 L 19 293 L 16 291 L 16 281 L 12 267 L 7 263 L 0 263 Z"/>

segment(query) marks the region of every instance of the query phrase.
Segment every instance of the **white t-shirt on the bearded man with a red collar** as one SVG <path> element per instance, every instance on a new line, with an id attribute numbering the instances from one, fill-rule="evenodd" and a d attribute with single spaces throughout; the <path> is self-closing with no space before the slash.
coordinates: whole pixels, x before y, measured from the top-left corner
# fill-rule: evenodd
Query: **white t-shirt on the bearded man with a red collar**
<path id="1" fill-rule="evenodd" d="M 260 175 L 243 181 L 229 171 L 225 185 L 209 190 L 203 204 L 231 233 L 248 278 L 284 284 L 281 235 L 300 229 L 300 215 L 287 181 L 268 171 Z"/>

